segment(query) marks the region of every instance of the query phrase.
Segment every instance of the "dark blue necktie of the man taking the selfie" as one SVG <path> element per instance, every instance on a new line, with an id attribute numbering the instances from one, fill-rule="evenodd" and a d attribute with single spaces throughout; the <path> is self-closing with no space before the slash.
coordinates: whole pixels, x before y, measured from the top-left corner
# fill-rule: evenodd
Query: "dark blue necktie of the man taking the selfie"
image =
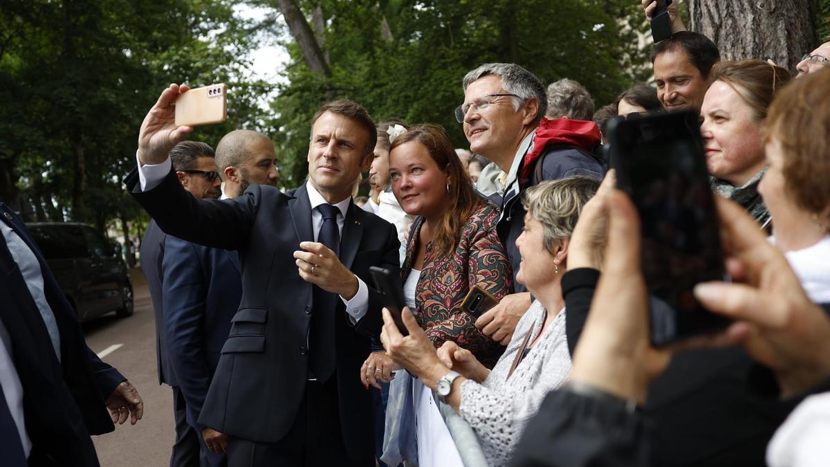
<path id="1" fill-rule="evenodd" d="M 331 204 L 320 204 L 317 206 L 320 214 L 323 214 L 323 224 L 320 225 L 320 233 L 317 241 L 323 243 L 334 254 L 340 254 L 340 233 L 337 228 L 337 214 L 340 210 Z M 337 307 L 337 294 L 326 292 L 322 288 L 314 286 L 314 307 L 311 315 L 311 336 L 310 336 L 310 361 L 311 372 L 321 382 L 327 381 L 334 368 L 337 366 L 335 352 L 335 309 Z"/>

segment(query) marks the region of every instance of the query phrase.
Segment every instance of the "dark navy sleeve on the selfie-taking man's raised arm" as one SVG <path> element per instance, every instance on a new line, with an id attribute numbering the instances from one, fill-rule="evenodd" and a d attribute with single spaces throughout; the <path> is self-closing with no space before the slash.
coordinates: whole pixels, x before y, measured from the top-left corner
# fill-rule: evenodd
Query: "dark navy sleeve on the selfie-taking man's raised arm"
<path id="1" fill-rule="evenodd" d="M 182 187 L 173 170 L 148 191 L 141 191 L 139 187 L 137 168 L 127 175 L 125 184 L 164 233 L 227 250 L 245 246 L 261 199 L 258 184 L 251 185 L 234 199 L 197 199 Z"/>

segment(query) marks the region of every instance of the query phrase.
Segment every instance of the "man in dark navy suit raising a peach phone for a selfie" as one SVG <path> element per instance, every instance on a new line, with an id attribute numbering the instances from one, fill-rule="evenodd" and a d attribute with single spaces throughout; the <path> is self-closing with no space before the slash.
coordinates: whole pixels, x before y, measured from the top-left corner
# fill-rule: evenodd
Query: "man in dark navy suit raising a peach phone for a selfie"
<path id="1" fill-rule="evenodd" d="M 374 121 L 354 102 L 331 102 L 312 120 L 305 184 L 200 200 L 168 159 L 192 130 L 173 123 L 184 91 L 171 85 L 149 111 L 126 183 L 168 234 L 240 255 L 242 302 L 199 423 L 229 436 L 233 466 L 374 465 L 374 412 L 359 371 L 382 305 L 367 283 L 370 266 L 398 273 L 399 246 L 392 224 L 351 201 Z"/>

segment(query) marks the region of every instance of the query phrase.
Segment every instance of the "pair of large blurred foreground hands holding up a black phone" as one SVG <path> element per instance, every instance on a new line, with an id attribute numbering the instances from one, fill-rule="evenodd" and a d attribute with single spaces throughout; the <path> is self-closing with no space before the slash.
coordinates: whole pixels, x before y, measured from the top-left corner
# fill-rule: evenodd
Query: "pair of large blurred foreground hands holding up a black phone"
<path id="1" fill-rule="evenodd" d="M 620 191 L 609 207 L 603 275 L 574 352 L 571 381 L 642 403 L 673 352 L 736 343 L 774 372 L 781 397 L 803 394 L 830 377 L 830 318 L 809 301 L 757 224 L 725 199 L 718 199 L 717 208 L 726 268 L 735 283 L 701 283 L 695 293 L 710 311 L 735 322 L 714 335 L 652 347 L 637 210 Z"/>

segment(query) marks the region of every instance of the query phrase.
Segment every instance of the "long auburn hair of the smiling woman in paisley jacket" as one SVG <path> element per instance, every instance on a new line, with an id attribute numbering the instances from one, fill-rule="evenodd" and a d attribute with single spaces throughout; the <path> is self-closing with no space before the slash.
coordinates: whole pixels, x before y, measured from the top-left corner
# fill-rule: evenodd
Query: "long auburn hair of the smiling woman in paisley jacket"
<path id="1" fill-rule="evenodd" d="M 486 200 L 476 193 L 472 187 L 472 179 L 461 165 L 461 160 L 452 147 L 444 129 L 438 125 L 424 124 L 413 126 L 402 135 L 398 135 L 389 147 L 389 152 L 399 145 L 416 141 L 427 148 L 432 160 L 447 174 L 449 187 L 447 189 L 447 210 L 441 225 L 437 226 L 432 238 L 432 252 L 452 254 L 458 246 L 461 237 L 461 226 L 466 223 L 472 212 L 479 208 Z"/>

